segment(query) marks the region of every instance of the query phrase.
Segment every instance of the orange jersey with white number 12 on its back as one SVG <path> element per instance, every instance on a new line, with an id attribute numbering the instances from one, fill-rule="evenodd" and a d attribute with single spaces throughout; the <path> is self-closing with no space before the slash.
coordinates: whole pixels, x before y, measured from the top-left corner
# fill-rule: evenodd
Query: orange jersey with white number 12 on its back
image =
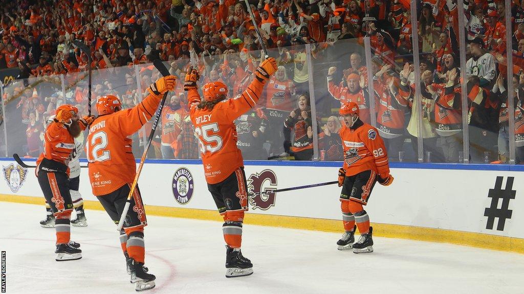
<path id="1" fill-rule="evenodd" d="M 93 195 L 106 195 L 133 183 L 136 163 L 128 137 L 155 114 L 160 99 L 160 95 L 148 95 L 133 108 L 99 116 L 91 123 L 85 153 Z"/>

